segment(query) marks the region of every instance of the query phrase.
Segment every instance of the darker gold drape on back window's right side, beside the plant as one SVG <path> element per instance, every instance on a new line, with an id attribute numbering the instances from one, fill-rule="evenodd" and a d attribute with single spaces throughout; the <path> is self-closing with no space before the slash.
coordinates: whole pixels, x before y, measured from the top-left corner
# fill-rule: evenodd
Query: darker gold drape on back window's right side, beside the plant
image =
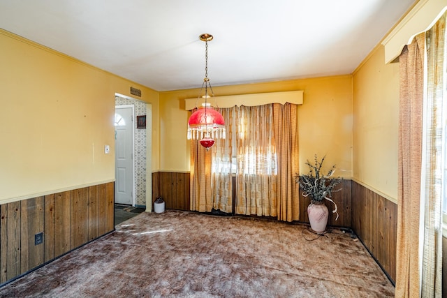
<path id="1" fill-rule="evenodd" d="M 277 148 L 277 217 L 280 221 L 300 219 L 300 197 L 295 173 L 298 159 L 298 106 L 291 103 L 273 105 L 275 146 Z"/>

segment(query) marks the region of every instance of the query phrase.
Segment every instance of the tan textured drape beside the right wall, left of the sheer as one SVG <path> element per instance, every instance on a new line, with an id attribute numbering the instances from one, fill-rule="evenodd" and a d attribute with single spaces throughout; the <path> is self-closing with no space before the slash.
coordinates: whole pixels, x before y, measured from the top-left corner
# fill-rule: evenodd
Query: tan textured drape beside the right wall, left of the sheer
<path id="1" fill-rule="evenodd" d="M 419 297 L 418 243 L 425 34 L 400 55 L 395 297 Z"/>

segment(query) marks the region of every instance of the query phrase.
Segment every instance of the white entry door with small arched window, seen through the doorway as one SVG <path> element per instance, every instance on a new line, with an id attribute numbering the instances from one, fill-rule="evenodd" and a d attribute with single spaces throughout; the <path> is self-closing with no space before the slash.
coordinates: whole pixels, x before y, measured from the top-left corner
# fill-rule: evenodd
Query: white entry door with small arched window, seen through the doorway
<path id="1" fill-rule="evenodd" d="M 133 106 L 115 107 L 115 203 L 133 205 Z"/>

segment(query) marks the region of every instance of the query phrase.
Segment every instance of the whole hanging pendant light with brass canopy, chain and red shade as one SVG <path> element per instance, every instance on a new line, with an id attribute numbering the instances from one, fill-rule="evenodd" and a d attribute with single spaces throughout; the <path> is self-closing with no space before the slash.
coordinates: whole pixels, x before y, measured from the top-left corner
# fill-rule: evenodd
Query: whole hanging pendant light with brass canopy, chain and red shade
<path id="1" fill-rule="evenodd" d="M 205 98 L 205 103 L 198 107 L 196 112 L 193 112 L 191 117 L 189 117 L 188 140 L 200 140 L 200 144 L 208 150 L 214 145 L 214 138 L 225 138 L 225 121 L 222 115 L 217 110 L 214 110 L 207 101 L 208 98 L 214 96 L 210 79 L 208 79 L 208 41 L 211 41 L 213 36 L 204 33 L 199 38 L 205 41 L 205 78 L 203 79 L 198 98 L 200 98 L 200 94 L 202 94 L 203 88 L 205 88 L 205 95 L 202 96 Z M 210 89 L 211 96 L 208 95 L 208 89 Z"/>

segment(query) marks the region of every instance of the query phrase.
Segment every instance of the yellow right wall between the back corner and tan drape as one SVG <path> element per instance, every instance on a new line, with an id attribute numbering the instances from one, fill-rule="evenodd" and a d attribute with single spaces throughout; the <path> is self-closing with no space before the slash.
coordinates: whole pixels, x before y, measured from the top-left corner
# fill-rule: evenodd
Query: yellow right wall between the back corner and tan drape
<path id="1" fill-rule="evenodd" d="M 353 179 L 397 202 L 399 64 L 383 46 L 353 74 Z"/>

